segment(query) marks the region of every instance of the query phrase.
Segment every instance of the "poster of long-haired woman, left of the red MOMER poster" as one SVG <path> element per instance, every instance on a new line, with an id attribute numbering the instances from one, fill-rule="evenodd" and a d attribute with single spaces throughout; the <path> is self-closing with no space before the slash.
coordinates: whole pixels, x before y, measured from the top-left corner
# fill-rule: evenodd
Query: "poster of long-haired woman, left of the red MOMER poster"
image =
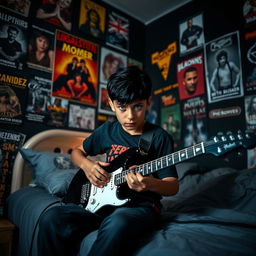
<path id="1" fill-rule="evenodd" d="M 51 72 L 53 63 L 54 32 L 32 25 L 28 43 L 28 67 Z"/>

